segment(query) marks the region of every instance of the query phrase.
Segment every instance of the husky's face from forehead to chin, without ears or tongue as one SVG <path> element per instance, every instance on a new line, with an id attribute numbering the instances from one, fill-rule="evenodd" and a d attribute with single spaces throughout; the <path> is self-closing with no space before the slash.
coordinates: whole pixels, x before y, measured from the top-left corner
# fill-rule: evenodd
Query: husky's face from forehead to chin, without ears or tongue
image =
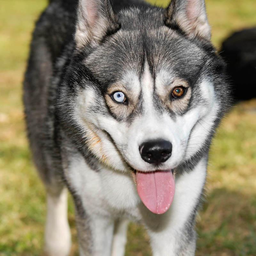
<path id="1" fill-rule="evenodd" d="M 146 46 L 139 33 L 131 39 L 119 31 L 85 59 L 100 86 L 106 76 L 108 81 L 103 90 L 93 84 L 79 92 L 76 113 L 90 134 L 90 150 L 107 164 L 170 170 L 202 147 L 213 127 L 218 110 L 213 77 L 201 74 L 206 53 L 177 33 L 159 28 L 144 36 Z M 143 156 L 145 149 L 150 154 L 148 142 L 169 157 L 149 164 L 153 156 Z"/>

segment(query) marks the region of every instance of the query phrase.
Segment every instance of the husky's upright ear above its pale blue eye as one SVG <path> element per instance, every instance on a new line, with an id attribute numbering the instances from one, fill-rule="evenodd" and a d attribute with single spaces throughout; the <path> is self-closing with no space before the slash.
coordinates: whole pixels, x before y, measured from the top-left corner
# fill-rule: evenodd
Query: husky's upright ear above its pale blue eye
<path id="1" fill-rule="evenodd" d="M 109 0 L 79 0 L 76 21 L 76 48 L 97 44 L 120 28 L 118 16 Z"/>

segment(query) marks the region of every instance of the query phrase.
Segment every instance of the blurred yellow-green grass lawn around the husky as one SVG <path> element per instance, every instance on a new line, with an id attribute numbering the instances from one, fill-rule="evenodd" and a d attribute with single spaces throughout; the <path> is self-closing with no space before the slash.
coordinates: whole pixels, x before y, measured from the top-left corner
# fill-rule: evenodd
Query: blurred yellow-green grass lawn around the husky
<path id="1" fill-rule="evenodd" d="M 45 193 L 26 140 L 21 84 L 34 21 L 46 2 L 2 0 L 0 5 L 1 256 L 43 253 Z M 256 24 L 255 0 L 207 0 L 206 7 L 217 47 L 232 31 Z M 256 101 L 251 100 L 232 108 L 213 141 L 207 199 L 197 223 L 197 256 L 256 255 L 255 169 Z M 77 255 L 72 200 L 68 219 L 71 255 Z M 151 255 L 147 234 L 135 224 L 128 231 L 128 255 Z"/>

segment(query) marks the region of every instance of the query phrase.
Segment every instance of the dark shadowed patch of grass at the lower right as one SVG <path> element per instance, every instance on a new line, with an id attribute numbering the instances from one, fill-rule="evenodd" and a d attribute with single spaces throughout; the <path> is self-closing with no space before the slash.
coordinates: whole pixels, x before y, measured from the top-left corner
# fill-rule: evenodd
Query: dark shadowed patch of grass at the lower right
<path id="1" fill-rule="evenodd" d="M 197 256 L 256 255 L 256 195 L 226 188 L 208 196 L 197 224 Z"/>

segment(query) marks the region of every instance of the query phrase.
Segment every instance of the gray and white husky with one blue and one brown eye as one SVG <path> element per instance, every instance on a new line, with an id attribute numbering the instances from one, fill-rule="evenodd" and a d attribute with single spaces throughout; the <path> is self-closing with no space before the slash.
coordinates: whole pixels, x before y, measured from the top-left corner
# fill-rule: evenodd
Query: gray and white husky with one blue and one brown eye
<path id="1" fill-rule="evenodd" d="M 130 220 L 154 256 L 194 255 L 208 150 L 228 105 L 204 0 L 53 0 L 24 82 L 28 137 L 47 191 L 45 247 L 124 255 Z"/>

